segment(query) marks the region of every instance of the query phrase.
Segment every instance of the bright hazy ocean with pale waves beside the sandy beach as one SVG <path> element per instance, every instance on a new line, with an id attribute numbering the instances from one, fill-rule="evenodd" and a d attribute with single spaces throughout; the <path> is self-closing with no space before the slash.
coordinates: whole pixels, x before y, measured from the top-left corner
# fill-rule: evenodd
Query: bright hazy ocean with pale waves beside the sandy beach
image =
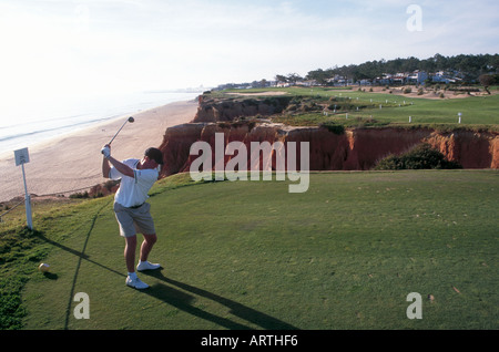
<path id="1" fill-rule="evenodd" d="M 136 92 L 108 95 L 26 97 L 0 101 L 0 154 L 30 147 L 124 115 L 190 101 L 201 92 Z"/>

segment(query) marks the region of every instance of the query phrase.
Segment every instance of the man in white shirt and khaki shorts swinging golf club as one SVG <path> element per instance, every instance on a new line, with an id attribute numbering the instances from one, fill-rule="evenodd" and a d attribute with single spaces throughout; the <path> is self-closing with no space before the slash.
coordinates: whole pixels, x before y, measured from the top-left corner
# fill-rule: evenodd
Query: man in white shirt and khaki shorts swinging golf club
<path id="1" fill-rule="evenodd" d="M 121 179 L 120 188 L 114 196 L 114 213 L 120 225 L 120 235 L 125 239 L 124 258 L 128 277 L 125 283 L 135 289 L 146 289 L 135 273 L 136 232 L 141 232 L 144 240 L 140 250 L 138 271 L 154 270 L 161 266 L 147 261 L 149 253 L 157 240 L 154 221 L 151 217 L 151 205 L 145 203 L 147 193 L 160 175 L 163 164 L 163 153 L 157 148 L 149 148 L 142 159 L 125 159 L 119 162 L 111 156 L 111 146 L 106 144 L 101 153 L 102 176 Z M 111 164 L 111 165 L 110 165 Z"/>

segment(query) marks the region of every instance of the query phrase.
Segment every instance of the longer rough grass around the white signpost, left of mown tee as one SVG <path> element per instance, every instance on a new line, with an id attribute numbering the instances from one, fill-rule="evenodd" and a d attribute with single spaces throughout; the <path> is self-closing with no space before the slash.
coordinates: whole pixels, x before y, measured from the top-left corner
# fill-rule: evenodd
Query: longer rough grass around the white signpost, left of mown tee
<path id="1" fill-rule="evenodd" d="M 34 203 L 34 231 L 24 227 L 22 207 L 16 208 L 0 222 L 0 329 L 22 328 L 27 310 L 21 291 L 26 282 L 53 249 L 54 240 L 63 240 L 67 234 L 78 230 L 83 218 L 93 211 L 93 203 L 84 203 L 80 207 L 77 204 L 81 201 Z M 44 234 L 49 234 L 50 239 Z"/>

